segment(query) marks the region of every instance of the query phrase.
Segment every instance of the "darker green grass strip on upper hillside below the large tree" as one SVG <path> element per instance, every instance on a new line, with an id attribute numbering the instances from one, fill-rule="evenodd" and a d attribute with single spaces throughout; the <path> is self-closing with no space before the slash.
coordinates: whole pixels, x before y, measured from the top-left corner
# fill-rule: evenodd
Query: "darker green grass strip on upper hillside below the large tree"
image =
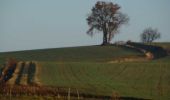
<path id="1" fill-rule="evenodd" d="M 0 53 L 0 64 L 5 62 L 9 57 L 25 61 L 93 62 L 141 55 L 143 54 L 133 49 L 117 46 L 84 46 Z"/>

